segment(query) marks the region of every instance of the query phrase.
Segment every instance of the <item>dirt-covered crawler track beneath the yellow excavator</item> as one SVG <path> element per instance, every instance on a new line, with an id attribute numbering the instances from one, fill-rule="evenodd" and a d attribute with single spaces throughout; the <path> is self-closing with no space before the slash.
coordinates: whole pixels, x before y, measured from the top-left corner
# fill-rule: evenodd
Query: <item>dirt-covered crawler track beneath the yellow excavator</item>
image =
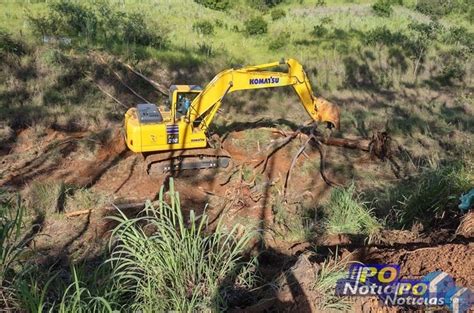
<path id="1" fill-rule="evenodd" d="M 148 175 L 181 170 L 226 168 L 230 154 L 222 148 L 203 148 L 178 151 L 144 153 Z"/>

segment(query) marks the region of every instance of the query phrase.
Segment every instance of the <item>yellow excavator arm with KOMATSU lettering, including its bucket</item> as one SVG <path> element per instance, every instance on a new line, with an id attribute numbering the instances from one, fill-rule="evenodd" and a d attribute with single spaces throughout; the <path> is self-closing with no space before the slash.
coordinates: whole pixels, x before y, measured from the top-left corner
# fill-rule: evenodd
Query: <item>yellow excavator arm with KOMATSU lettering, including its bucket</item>
<path id="1" fill-rule="evenodd" d="M 287 72 L 266 70 L 283 64 L 287 65 Z M 338 107 L 313 95 L 303 66 L 294 59 L 220 72 L 193 100 L 186 118 L 193 125 L 198 122 L 200 129 L 207 130 L 228 93 L 284 86 L 293 87 L 306 112 L 315 122 L 325 122 L 329 127 L 339 128 Z"/>

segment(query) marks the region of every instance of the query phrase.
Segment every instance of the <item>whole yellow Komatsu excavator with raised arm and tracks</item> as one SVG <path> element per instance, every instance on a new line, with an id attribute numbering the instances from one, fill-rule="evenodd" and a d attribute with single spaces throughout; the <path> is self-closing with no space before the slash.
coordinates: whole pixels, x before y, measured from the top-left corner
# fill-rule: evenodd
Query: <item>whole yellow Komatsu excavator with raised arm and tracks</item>
<path id="1" fill-rule="evenodd" d="M 287 71 L 268 71 L 286 65 Z M 303 66 L 294 59 L 229 69 L 205 87 L 172 85 L 169 104 L 144 103 L 125 113 L 125 140 L 130 150 L 145 157 L 148 174 L 227 167 L 230 155 L 207 136 L 224 97 L 231 92 L 292 86 L 315 122 L 339 128 L 336 105 L 313 95 Z"/>

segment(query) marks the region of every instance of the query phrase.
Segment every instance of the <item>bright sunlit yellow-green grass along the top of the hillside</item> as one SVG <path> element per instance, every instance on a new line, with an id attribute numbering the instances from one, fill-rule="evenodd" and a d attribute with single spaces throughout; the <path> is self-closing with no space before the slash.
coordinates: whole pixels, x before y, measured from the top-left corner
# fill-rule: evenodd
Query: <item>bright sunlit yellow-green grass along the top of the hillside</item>
<path id="1" fill-rule="evenodd" d="M 287 3 L 281 5 L 287 11 L 287 15 L 281 19 L 273 21 L 270 11 L 264 12 L 263 16 L 269 23 L 268 35 L 247 36 L 245 34 L 242 20 L 261 15 L 261 11 L 236 3 L 228 12 L 215 11 L 203 7 L 192 0 L 178 0 L 170 2 L 154 1 L 125 1 L 125 5 L 117 1 L 110 3 L 117 10 L 126 12 L 147 12 L 149 22 L 153 21 L 167 29 L 169 38 L 172 41 L 173 50 L 189 49 L 196 50 L 198 45 L 206 42 L 217 50 L 225 53 L 227 57 L 234 60 L 246 60 L 247 63 L 260 63 L 274 61 L 280 57 L 273 56 L 269 50 L 268 44 L 272 38 L 282 32 L 292 34 L 287 45 L 279 53 L 286 57 L 294 57 L 306 63 L 309 59 L 333 58 L 333 53 L 328 53 L 328 48 L 333 43 L 336 45 L 341 40 L 333 42 L 321 38 L 320 44 L 316 43 L 309 46 L 295 45 L 294 42 L 307 40 L 309 32 L 314 25 L 324 21 L 325 26 L 338 28 L 344 31 L 356 29 L 361 32 L 367 32 L 378 25 L 385 25 L 390 30 L 405 30 L 406 25 L 412 20 L 427 21 L 426 17 L 416 11 L 410 10 L 406 5 L 404 7 L 395 6 L 394 14 L 390 18 L 379 17 L 373 14 L 370 4 L 375 1 L 357 1 L 347 4 L 343 1 L 326 1 L 327 5 L 315 7 L 314 1 L 304 1 L 302 4 Z M 26 10 L 30 12 L 44 13 L 47 5 L 45 3 L 28 4 L 25 1 L 9 2 L 4 13 L 6 18 L 0 24 L 12 31 L 22 31 L 29 33 L 30 29 L 25 23 Z M 351 9 L 349 9 L 349 7 Z M 8 12 L 15 12 L 14 14 Z M 354 13 L 355 12 L 355 13 Z M 215 34 L 209 38 L 203 38 L 193 32 L 192 23 L 187 23 L 183 16 L 192 18 L 195 21 L 207 20 L 219 25 L 215 27 Z M 327 22 L 329 21 L 329 23 Z M 444 21 L 446 25 L 451 25 L 448 20 Z M 237 27 L 239 31 L 235 31 Z M 472 26 L 468 26 L 472 29 Z M 263 40 L 262 40 L 263 39 Z M 316 38 L 316 41 L 318 38 Z"/>

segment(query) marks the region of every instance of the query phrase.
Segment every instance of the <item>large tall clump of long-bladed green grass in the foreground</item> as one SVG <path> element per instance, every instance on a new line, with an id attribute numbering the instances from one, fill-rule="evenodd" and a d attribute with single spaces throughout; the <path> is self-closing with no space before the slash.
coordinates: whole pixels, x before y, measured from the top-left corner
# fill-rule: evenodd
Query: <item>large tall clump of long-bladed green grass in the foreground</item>
<path id="1" fill-rule="evenodd" d="M 220 223 L 208 233 L 205 213 L 185 220 L 172 181 L 168 196 L 169 203 L 162 188 L 142 217 L 114 218 L 114 279 L 130 293 L 133 311 L 224 310 L 233 288 L 253 283 L 252 263 L 242 258 L 250 233 L 237 236 Z"/>

